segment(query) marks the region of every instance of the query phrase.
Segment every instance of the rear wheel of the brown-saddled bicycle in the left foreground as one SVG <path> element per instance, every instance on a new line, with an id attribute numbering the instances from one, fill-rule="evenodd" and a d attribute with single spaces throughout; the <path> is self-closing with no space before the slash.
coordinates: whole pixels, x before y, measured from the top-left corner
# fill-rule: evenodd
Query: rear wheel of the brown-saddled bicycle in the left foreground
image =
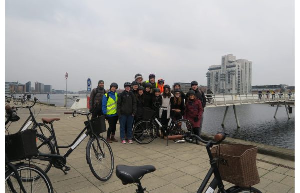
<path id="1" fill-rule="evenodd" d="M 40 153 L 44 154 L 55 154 L 55 149 L 53 144 L 48 141 L 45 142 L 47 138 L 41 134 L 36 133 L 36 146 Z M 44 143 L 44 144 L 43 144 Z M 52 160 L 44 157 L 31 157 L 30 159 L 23 160 L 25 163 L 33 164 L 40 167 L 45 173 L 47 173 L 52 167 Z"/>

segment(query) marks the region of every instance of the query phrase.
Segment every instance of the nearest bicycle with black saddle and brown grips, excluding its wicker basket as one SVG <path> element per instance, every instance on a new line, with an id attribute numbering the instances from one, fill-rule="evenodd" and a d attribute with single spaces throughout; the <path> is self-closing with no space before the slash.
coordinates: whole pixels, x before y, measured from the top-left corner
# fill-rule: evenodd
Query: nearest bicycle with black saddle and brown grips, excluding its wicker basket
<path id="1" fill-rule="evenodd" d="M 258 181 L 257 180 L 256 181 L 254 180 L 254 182 L 251 181 L 252 184 L 246 185 L 245 187 L 234 185 L 225 190 L 224 184 L 222 181 L 222 177 L 221 177 L 222 173 L 220 173 L 218 164 L 222 164 L 222 163 L 226 164 L 226 162 L 224 159 L 222 159 L 222 157 L 217 156 L 218 150 L 216 150 L 216 152 L 212 153 L 212 151 L 210 149 L 213 145 L 219 145 L 225 139 L 226 134 L 224 132 L 217 133 L 214 136 L 215 141 L 211 141 L 211 140 L 205 141 L 201 137 L 194 135 L 194 134 L 190 134 L 189 132 L 187 132 L 183 135 L 170 136 L 171 139 L 184 139 L 184 138 L 192 138 L 192 137 L 194 137 L 194 138 L 198 139 L 199 141 L 206 144 L 206 150 L 207 150 L 207 153 L 208 153 L 209 159 L 210 159 L 210 169 L 209 169 L 208 173 L 206 174 L 204 180 L 202 181 L 197 193 L 214 192 L 216 188 L 218 188 L 218 190 L 217 190 L 218 193 L 238 193 L 238 192 L 261 193 L 261 191 L 252 187 L 252 185 L 259 183 L 259 175 L 258 175 L 255 161 L 254 162 L 255 162 L 256 174 L 257 174 L 256 178 L 258 177 Z M 216 148 L 216 147 L 214 147 L 214 148 Z M 222 146 L 220 146 L 220 147 L 218 146 L 217 149 L 222 149 Z M 256 149 L 256 153 L 257 153 L 257 149 Z M 256 156 L 254 158 L 256 160 Z M 144 191 L 146 191 L 146 188 L 142 187 L 140 180 L 145 174 L 151 173 L 155 170 L 156 170 L 156 168 L 153 165 L 143 165 L 143 166 L 117 165 L 115 173 L 116 173 L 116 176 L 122 181 L 123 185 L 136 183 L 136 185 L 137 185 L 136 193 L 144 193 Z M 204 191 L 212 174 L 214 174 L 214 178 L 212 179 L 209 186 Z M 239 177 L 240 175 L 237 175 L 237 176 Z"/>

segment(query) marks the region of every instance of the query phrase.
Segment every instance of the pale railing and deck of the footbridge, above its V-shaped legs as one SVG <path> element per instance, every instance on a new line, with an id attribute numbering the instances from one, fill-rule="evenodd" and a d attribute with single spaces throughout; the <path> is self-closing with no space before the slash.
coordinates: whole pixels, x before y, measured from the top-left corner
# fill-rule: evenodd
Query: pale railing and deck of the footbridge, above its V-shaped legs
<path id="1" fill-rule="evenodd" d="M 291 101 L 295 99 L 295 93 L 219 93 L 219 94 L 205 94 L 213 98 L 213 103 L 206 102 L 207 107 L 213 106 L 228 106 L 240 104 L 253 104 L 253 103 L 267 103 L 278 101 Z M 208 98 L 209 98 L 208 97 Z"/>

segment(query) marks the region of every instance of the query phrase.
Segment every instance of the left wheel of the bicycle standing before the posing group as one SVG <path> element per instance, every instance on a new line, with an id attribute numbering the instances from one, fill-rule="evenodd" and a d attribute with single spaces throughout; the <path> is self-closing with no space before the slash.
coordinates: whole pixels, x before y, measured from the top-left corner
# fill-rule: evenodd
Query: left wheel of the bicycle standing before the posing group
<path id="1" fill-rule="evenodd" d="M 157 135 L 156 126 L 149 120 L 139 121 L 132 130 L 133 139 L 139 144 L 152 142 Z"/>

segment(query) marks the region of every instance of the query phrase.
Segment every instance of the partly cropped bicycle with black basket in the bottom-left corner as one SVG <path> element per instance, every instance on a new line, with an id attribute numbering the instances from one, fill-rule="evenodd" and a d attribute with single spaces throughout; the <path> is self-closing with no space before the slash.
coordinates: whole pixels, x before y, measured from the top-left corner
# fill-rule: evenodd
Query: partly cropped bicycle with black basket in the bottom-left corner
<path id="1" fill-rule="evenodd" d="M 19 118 L 8 115 L 10 121 Z M 5 124 L 6 125 L 6 124 Z M 35 131 L 26 130 L 5 136 L 5 192 L 53 192 L 49 177 L 39 167 L 19 162 L 38 153 L 35 140 Z"/>

